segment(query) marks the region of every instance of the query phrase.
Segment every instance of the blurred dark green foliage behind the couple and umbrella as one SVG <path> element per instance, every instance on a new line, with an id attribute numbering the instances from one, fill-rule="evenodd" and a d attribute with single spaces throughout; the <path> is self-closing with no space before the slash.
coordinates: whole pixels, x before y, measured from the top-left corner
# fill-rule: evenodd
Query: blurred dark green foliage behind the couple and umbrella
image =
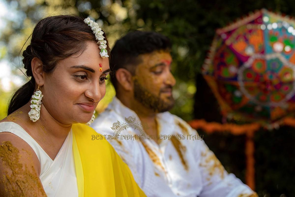
<path id="1" fill-rule="evenodd" d="M 177 79 L 173 90 L 176 106 L 171 113 L 186 121 L 194 118 L 221 121 L 216 100 L 199 74 L 217 28 L 261 8 L 295 16 L 295 1 L 292 0 L 14 0 L 7 3 L 9 9 L 14 9 L 22 17 L 17 21 L 6 19 L 7 27 L 0 34 L 0 58 L 9 59 L 17 75 L 21 75 L 17 67 L 22 69 L 19 61 L 21 46 L 34 24 L 46 16 L 90 16 L 102 25 L 111 46 L 131 30 L 153 30 L 168 36 L 173 43 L 172 69 Z M 112 85 L 108 84 L 107 88 L 99 111 L 114 96 Z M 0 91 L 0 118 L 5 117 L 11 94 Z M 259 196 L 295 196 L 294 131 L 293 128 L 283 127 L 276 131 L 261 130 L 255 134 L 255 180 Z M 244 182 L 245 136 L 199 133 L 205 135 L 206 143 L 226 170 Z"/>

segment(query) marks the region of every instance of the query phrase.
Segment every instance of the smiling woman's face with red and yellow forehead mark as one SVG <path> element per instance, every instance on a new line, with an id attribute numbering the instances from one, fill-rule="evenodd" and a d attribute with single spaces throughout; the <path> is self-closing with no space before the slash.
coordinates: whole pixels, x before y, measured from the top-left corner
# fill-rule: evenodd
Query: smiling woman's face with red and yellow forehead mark
<path id="1" fill-rule="evenodd" d="M 109 59 L 101 58 L 98 47 L 88 42 L 82 53 L 59 61 L 52 73 L 45 74 L 42 102 L 57 121 L 87 123 L 104 97 Z"/>

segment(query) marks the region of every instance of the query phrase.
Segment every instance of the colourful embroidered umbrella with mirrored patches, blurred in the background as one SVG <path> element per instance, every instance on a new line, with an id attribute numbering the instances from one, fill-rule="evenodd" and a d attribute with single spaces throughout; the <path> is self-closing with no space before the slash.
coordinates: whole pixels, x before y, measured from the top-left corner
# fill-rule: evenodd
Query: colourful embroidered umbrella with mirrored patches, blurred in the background
<path id="1" fill-rule="evenodd" d="M 262 9 L 217 30 L 203 75 L 227 119 L 271 129 L 294 116 L 294 27 Z"/>

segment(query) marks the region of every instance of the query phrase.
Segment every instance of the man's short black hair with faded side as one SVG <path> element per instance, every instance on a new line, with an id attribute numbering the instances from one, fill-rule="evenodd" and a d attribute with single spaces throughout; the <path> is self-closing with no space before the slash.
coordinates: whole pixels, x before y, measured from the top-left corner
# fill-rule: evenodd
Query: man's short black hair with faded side
<path id="1" fill-rule="evenodd" d="M 134 75 L 136 66 L 141 62 L 141 59 L 138 58 L 140 54 L 169 50 L 170 48 L 170 40 L 156 32 L 130 32 L 117 40 L 111 51 L 109 62 L 112 70 L 111 81 L 115 89 L 117 89 L 115 73 L 119 68 L 127 69 Z"/>

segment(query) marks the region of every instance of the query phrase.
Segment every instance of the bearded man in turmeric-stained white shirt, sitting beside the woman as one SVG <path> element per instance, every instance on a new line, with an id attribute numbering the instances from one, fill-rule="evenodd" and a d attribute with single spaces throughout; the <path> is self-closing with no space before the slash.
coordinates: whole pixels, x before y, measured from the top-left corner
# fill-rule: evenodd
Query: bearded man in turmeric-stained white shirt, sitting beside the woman
<path id="1" fill-rule="evenodd" d="M 116 97 L 91 126 L 109 139 L 147 196 L 257 196 L 224 170 L 194 129 L 168 112 L 175 85 L 170 48 L 155 32 L 118 40 L 110 59 Z"/>

